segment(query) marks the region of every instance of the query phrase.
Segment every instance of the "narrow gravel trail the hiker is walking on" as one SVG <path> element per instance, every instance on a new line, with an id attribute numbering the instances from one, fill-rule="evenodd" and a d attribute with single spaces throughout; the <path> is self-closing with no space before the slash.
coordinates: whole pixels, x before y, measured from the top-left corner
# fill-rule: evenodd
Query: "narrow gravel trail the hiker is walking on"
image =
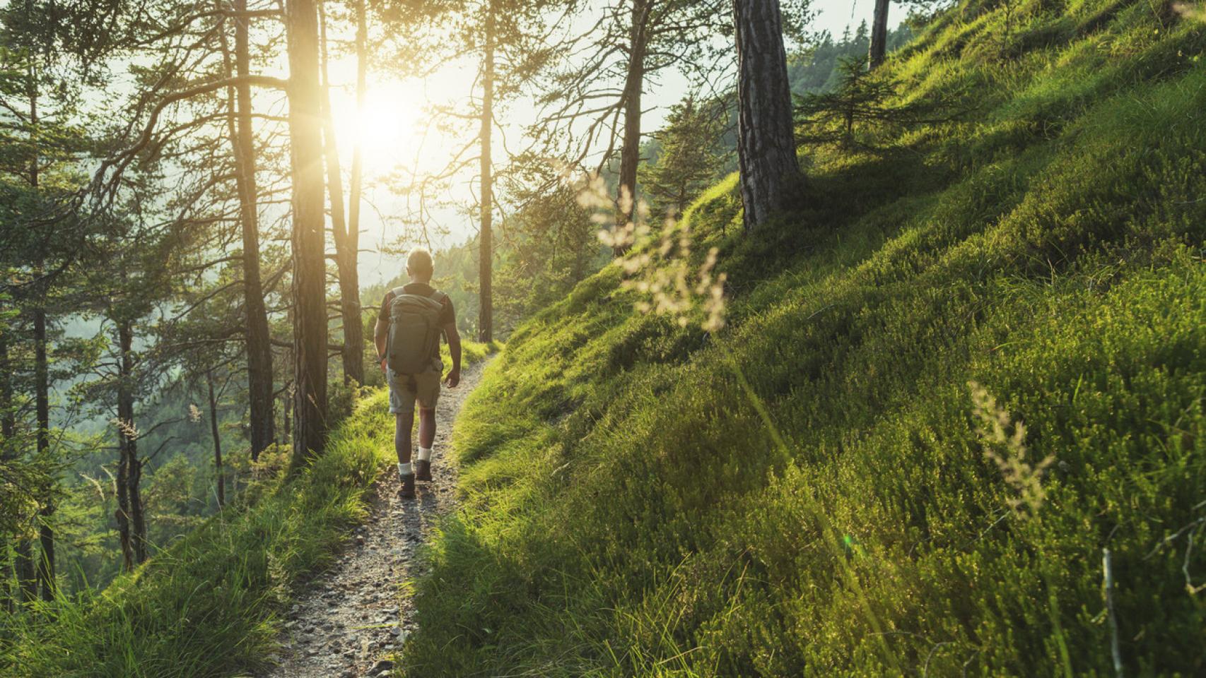
<path id="1" fill-rule="evenodd" d="M 391 467 L 370 490 L 369 517 L 327 572 L 318 574 L 286 614 L 282 652 L 264 678 L 352 678 L 388 674 L 384 658 L 415 627 L 410 595 L 399 589 L 422 573 L 416 550 L 437 517 L 456 503 L 456 467 L 449 461 L 452 421 L 478 385 L 485 362 L 466 367 L 461 384 L 444 388 L 437 405 L 432 482 L 415 499 L 398 497 Z"/>

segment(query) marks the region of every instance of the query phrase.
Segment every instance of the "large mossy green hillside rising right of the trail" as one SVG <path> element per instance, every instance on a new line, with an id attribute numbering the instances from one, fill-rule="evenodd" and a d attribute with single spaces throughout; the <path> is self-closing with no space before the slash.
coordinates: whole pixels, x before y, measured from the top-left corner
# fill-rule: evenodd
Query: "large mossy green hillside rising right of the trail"
<path id="1" fill-rule="evenodd" d="M 966 122 L 814 149 L 777 236 L 738 236 L 732 179 L 696 204 L 718 336 L 609 266 L 511 337 L 406 674 L 1112 674 L 1106 546 L 1128 672 L 1206 672 L 1206 549 L 1158 548 L 1206 515 L 1206 30 L 1019 5 L 888 66 Z M 1056 459 L 1030 519 L 968 381 Z"/>

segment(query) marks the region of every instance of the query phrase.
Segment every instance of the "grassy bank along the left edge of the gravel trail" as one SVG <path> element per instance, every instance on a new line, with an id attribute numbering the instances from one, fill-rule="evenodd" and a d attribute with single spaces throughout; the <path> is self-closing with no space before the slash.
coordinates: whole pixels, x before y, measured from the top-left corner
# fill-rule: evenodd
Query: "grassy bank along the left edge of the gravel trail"
<path id="1" fill-rule="evenodd" d="M 494 348 L 464 342 L 466 364 Z M 379 389 L 295 481 L 269 482 L 252 506 L 215 517 L 105 590 L 59 601 L 53 619 L 0 618 L 0 676 L 197 678 L 259 666 L 275 649 L 276 612 L 330 561 L 392 461 L 388 394 Z"/>

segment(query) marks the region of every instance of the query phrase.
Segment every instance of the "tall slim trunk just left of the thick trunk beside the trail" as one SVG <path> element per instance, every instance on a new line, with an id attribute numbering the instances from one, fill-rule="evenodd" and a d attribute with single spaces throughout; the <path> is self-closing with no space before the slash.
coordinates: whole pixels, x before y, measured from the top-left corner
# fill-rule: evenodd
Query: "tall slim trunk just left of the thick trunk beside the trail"
<path id="1" fill-rule="evenodd" d="M 239 77 L 251 72 L 251 48 L 247 37 L 247 0 L 234 0 L 235 70 Z M 223 34 L 224 35 L 224 34 Z M 259 189 L 256 184 L 256 137 L 252 130 L 251 84 L 238 92 L 238 132 L 230 143 L 236 165 L 239 218 L 242 223 L 242 305 L 246 309 L 244 340 L 247 352 L 247 407 L 251 429 L 251 459 L 273 444 L 273 347 L 268 331 L 268 309 L 259 276 Z"/>

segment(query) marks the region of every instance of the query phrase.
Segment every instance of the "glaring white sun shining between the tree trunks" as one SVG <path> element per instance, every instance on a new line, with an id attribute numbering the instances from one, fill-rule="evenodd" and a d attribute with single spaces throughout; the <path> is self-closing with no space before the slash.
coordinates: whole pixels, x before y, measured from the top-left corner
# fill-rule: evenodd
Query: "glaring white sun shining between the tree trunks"
<path id="1" fill-rule="evenodd" d="M 425 130 L 421 99 L 411 88 L 398 82 L 369 86 L 361 111 L 356 110 L 355 95 L 332 99 L 340 155 L 349 164 L 357 141 L 363 148 L 367 173 L 387 173 L 415 161 Z"/>

